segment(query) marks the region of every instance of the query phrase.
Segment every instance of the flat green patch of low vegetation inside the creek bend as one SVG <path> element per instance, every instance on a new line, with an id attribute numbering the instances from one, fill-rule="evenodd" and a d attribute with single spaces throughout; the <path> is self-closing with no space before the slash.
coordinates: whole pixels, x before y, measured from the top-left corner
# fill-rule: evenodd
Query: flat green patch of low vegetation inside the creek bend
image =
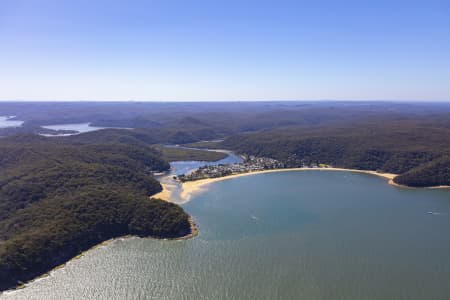
<path id="1" fill-rule="evenodd" d="M 159 150 L 162 152 L 164 159 L 167 161 L 218 161 L 228 156 L 228 154 L 223 152 L 202 151 L 180 147 L 159 147 Z"/>

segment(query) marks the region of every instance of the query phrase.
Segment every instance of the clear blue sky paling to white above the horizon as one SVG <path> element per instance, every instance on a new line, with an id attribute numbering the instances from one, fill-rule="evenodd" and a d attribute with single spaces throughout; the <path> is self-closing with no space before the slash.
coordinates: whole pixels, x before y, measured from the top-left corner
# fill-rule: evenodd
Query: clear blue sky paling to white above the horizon
<path id="1" fill-rule="evenodd" d="M 450 100 L 450 1 L 0 2 L 1 100 Z"/>

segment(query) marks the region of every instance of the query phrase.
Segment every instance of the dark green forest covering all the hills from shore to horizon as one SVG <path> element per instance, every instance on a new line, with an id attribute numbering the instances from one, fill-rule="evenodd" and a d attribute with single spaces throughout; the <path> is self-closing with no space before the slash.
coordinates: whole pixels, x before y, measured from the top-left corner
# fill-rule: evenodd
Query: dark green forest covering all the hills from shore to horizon
<path id="1" fill-rule="evenodd" d="M 0 115 L 25 121 L 0 129 L 1 289 L 111 237 L 188 233 L 180 207 L 148 199 L 161 190 L 151 174 L 167 161 L 223 154 L 156 144 L 398 173 L 395 182 L 409 186 L 450 184 L 445 103 L 2 103 Z M 33 135 L 45 132 L 41 125 L 81 122 L 135 129 Z"/>

